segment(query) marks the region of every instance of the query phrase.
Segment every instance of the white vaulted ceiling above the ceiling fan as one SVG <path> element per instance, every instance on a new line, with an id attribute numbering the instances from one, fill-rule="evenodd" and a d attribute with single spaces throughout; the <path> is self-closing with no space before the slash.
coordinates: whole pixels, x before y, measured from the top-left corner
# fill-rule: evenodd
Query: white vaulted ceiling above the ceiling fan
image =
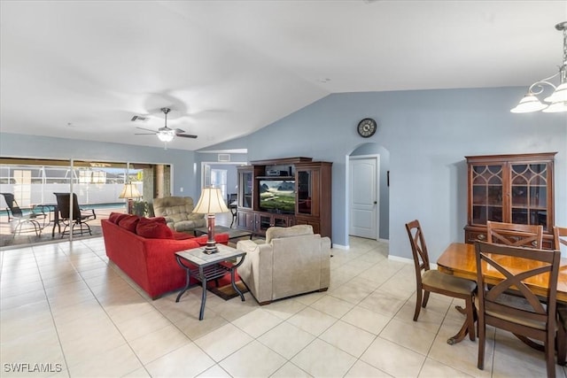
<path id="1" fill-rule="evenodd" d="M 567 1 L 1 0 L 0 17 L 0 131 L 163 146 L 135 133 L 168 106 L 198 135 L 168 147 L 198 150 L 330 93 L 527 89 L 562 62 Z"/>

